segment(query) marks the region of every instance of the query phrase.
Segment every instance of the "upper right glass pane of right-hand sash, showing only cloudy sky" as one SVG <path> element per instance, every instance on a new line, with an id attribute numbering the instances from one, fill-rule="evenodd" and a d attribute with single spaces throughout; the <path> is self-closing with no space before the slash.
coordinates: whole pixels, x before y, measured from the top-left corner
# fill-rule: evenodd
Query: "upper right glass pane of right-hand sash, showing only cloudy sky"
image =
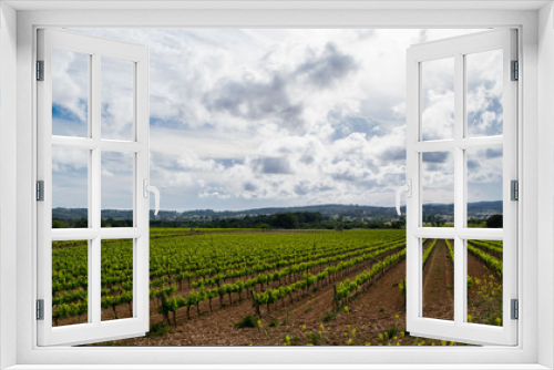
<path id="1" fill-rule="evenodd" d="M 465 55 L 468 136 L 502 135 L 503 51 Z"/>

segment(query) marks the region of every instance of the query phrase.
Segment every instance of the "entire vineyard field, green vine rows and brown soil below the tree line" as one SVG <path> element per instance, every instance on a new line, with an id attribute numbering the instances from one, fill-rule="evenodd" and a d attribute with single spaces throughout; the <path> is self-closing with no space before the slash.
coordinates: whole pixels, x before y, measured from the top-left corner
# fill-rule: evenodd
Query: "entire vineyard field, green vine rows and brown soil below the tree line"
<path id="1" fill-rule="evenodd" d="M 453 319 L 452 240 L 423 240 L 423 316 Z M 502 243 L 468 244 L 468 320 L 502 325 Z M 132 317 L 132 243 L 102 243 L 102 320 Z M 86 322 L 86 245 L 53 244 L 53 322 Z M 151 331 L 103 346 L 456 345 L 404 331 L 404 230 L 151 229 Z"/>

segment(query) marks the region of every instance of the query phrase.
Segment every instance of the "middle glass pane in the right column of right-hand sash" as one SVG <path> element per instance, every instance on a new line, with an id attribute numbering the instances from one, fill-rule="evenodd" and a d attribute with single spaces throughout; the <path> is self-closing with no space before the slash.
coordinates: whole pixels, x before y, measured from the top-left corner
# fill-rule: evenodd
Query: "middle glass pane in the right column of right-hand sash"
<path id="1" fill-rule="evenodd" d="M 468 227 L 502 227 L 502 147 L 466 150 Z"/>

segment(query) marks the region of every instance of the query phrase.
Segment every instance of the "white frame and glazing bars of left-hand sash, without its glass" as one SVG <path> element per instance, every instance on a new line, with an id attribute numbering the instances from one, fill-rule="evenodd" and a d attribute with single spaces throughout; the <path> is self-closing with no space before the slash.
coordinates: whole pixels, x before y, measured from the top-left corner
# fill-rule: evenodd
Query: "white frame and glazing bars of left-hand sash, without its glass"
<path id="1" fill-rule="evenodd" d="M 148 50 L 138 44 L 98 38 L 58 29 L 38 30 L 38 59 L 44 64 L 43 81 L 37 84 L 38 179 L 44 183 L 44 197 L 37 204 L 38 299 L 44 302 L 44 319 L 38 321 L 39 346 L 81 345 L 144 336 L 150 330 L 148 278 Z M 79 52 L 89 59 L 88 136 L 52 135 L 52 50 Z M 101 63 L 103 58 L 133 65 L 133 136 L 131 141 L 103 138 L 101 134 Z M 88 228 L 52 229 L 52 148 L 89 152 Z M 133 227 L 101 227 L 101 157 L 103 152 L 133 155 Z M 133 240 L 133 317 L 101 319 L 101 243 L 103 239 Z M 52 241 L 89 240 L 88 322 L 52 326 Z"/>

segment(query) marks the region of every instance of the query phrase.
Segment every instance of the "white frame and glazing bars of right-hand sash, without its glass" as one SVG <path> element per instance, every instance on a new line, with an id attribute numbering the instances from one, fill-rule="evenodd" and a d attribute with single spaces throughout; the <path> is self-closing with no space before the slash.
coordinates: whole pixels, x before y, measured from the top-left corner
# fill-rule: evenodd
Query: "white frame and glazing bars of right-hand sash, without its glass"
<path id="1" fill-rule="evenodd" d="M 514 29 L 483 32 L 414 44 L 408 50 L 407 99 L 407 178 L 411 196 L 407 199 L 407 330 L 418 337 L 459 340 L 469 343 L 517 343 L 517 321 L 511 319 L 511 299 L 517 298 L 517 204 L 511 201 L 510 182 L 517 181 L 517 81 L 511 81 L 511 61 L 517 60 Z M 466 125 L 466 55 L 502 51 L 503 133 L 496 136 L 471 137 Z M 449 58 L 453 61 L 454 122 L 453 136 L 423 141 L 422 65 L 428 61 Z M 502 193 L 503 228 L 468 228 L 466 150 L 503 148 Z M 453 156 L 454 227 L 422 227 L 422 155 L 450 152 Z M 454 294 L 453 320 L 423 317 L 423 238 L 453 239 Z M 502 292 L 503 325 L 501 327 L 466 322 L 468 317 L 468 249 L 469 239 L 503 240 Z M 511 274 L 511 271 L 513 271 Z"/>

